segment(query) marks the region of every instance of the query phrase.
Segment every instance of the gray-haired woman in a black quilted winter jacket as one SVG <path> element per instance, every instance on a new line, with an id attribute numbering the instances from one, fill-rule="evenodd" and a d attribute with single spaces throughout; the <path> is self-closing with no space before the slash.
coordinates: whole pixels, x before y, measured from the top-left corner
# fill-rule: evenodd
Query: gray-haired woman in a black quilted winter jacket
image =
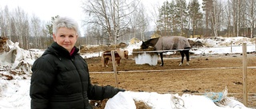
<path id="1" fill-rule="evenodd" d="M 92 109 L 89 99 L 109 99 L 125 91 L 90 83 L 86 61 L 74 46 L 78 32 L 78 23 L 73 19 L 55 19 L 54 43 L 32 67 L 31 109 Z"/>

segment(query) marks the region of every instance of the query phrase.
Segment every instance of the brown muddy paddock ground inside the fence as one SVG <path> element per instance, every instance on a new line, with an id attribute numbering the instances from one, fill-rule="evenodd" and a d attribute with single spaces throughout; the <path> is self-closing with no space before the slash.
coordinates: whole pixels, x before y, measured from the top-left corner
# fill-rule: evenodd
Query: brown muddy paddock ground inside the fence
<path id="1" fill-rule="evenodd" d="M 178 66 L 180 60 L 179 55 L 170 55 L 164 57 L 164 66 L 159 65 L 159 58 L 156 66 L 150 66 L 135 64 L 134 57 L 130 56 L 127 60 L 121 60 L 120 66 L 117 67 L 117 86 L 111 61 L 108 68 L 102 68 L 101 57 L 86 59 L 93 84 L 112 85 L 127 91 L 154 91 L 179 95 L 202 95 L 209 91 L 223 91 L 227 87 L 229 96 L 243 102 L 242 54 L 191 55 L 190 65 Z M 247 54 L 247 66 L 247 106 L 256 107 L 255 53 Z M 138 108 L 146 108 L 138 105 L 142 104 L 136 104 Z"/>

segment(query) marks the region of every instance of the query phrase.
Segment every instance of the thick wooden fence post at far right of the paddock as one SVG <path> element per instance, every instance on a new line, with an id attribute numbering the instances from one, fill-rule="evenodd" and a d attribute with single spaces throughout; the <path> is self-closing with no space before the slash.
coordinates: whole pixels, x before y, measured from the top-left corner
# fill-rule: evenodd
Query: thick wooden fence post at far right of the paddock
<path id="1" fill-rule="evenodd" d="M 246 43 L 242 44 L 243 103 L 247 107 L 247 53 Z"/>

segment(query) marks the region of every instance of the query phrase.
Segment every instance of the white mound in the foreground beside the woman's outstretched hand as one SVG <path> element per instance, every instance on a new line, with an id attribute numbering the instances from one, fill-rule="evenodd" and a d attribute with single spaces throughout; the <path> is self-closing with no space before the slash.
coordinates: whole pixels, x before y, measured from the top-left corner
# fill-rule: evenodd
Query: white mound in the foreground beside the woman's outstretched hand
<path id="1" fill-rule="evenodd" d="M 232 97 L 226 97 L 226 105 L 217 106 L 205 95 L 158 94 L 156 92 L 118 92 L 106 103 L 105 109 L 136 109 L 135 101 L 142 101 L 153 109 L 249 109 Z"/>

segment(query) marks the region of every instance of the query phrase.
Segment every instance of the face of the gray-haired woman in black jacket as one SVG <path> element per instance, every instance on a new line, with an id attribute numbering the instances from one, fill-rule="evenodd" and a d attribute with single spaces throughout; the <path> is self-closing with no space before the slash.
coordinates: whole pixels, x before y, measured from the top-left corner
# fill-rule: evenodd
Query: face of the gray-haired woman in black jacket
<path id="1" fill-rule="evenodd" d="M 74 44 L 78 40 L 78 35 L 74 29 L 59 28 L 56 34 L 53 34 L 54 41 L 65 48 L 67 51 L 71 52 L 74 48 Z"/>

